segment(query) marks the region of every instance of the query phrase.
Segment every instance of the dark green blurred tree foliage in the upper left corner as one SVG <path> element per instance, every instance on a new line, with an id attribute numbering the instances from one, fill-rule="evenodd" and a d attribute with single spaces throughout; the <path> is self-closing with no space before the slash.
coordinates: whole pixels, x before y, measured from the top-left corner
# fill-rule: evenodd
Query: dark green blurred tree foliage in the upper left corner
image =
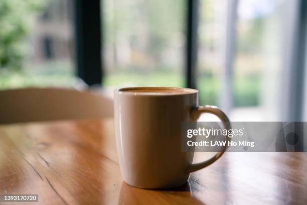
<path id="1" fill-rule="evenodd" d="M 20 69 L 26 54 L 25 43 L 31 23 L 43 0 L 0 1 L 0 69 Z"/>

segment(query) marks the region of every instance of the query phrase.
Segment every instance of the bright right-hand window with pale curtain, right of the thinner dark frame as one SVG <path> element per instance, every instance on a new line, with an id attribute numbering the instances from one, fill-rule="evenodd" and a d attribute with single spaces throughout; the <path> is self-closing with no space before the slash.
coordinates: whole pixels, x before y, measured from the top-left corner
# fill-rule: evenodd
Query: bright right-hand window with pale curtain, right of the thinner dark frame
<path id="1" fill-rule="evenodd" d="M 300 27 L 295 24 L 302 21 L 303 3 L 227 3 L 200 1 L 197 88 L 201 104 L 220 106 L 233 121 L 289 121 L 284 113 L 292 112 L 296 97 L 287 93 L 298 92 L 292 87 L 298 75 L 293 78 L 291 73 L 296 72 L 296 61 L 303 61 L 291 54 L 297 52 L 291 49 L 297 48 Z"/>

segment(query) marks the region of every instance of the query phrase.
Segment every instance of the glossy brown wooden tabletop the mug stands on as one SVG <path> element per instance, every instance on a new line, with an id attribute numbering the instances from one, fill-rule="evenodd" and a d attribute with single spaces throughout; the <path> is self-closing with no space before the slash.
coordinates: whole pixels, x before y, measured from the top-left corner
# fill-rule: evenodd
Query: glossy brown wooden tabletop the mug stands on
<path id="1" fill-rule="evenodd" d="M 306 204 L 307 153 L 228 152 L 184 186 L 146 190 L 122 180 L 113 119 L 1 125 L 6 193 L 42 204 Z"/>

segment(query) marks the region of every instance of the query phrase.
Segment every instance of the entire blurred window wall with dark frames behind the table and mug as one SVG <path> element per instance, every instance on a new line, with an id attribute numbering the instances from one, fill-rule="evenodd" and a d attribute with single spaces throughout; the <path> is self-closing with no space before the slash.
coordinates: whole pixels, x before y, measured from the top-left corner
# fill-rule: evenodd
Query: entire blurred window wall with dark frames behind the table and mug
<path id="1" fill-rule="evenodd" d="M 0 3 L 1 89 L 71 86 L 76 75 L 110 90 L 196 84 L 200 104 L 221 107 L 233 121 L 293 121 L 306 115 L 306 1 L 45 0 L 29 5 Z M 190 36 L 195 30 L 197 35 Z M 197 59 L 195 66 L 188 59 Z"/>

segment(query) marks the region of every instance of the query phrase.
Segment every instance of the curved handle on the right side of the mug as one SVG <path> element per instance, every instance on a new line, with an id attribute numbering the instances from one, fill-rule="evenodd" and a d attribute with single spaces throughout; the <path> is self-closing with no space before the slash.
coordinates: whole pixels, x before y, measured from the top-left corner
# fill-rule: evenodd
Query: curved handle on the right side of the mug
<path id="1" fill-rule="evenodd" d="M 231 129 L 228 117 L 225 115 L 225 113 L 223 111 L 221 111 L 220 109 L 218 109 L 215 106 L 199 106 L 199 107 L 193 109 L 191 111 L 192 120 L 197 121 L 198 118 L 200 117 L 200 115 L 203 114 L 203 113 L 211 113 L 213 115 L 216 115 L 222 121 L 225 129 L 227 129 L 227 130 Z M 218 160 L 224 154 L 224 152 L 227 149 L 228 141 L 230 141 L 230 138 L 228 137 L 228 135 L 225 136 L 225 140 L 227 141 L 227 143 L 225 144 L 225 146 L 223 146 L 221 151 L 217 152 L 212 158 L 210 158 L 210 159 L 208 159 L 204 162 L 191 164 L 187 168 L 186 173 L 190 173 L 190 172 L 197 171 L 197 170 L 200 170 L 202 168 L 205 168 L 206 166 L 209 166 L 210 164 L 212 164 L 213 162 Z"/>

